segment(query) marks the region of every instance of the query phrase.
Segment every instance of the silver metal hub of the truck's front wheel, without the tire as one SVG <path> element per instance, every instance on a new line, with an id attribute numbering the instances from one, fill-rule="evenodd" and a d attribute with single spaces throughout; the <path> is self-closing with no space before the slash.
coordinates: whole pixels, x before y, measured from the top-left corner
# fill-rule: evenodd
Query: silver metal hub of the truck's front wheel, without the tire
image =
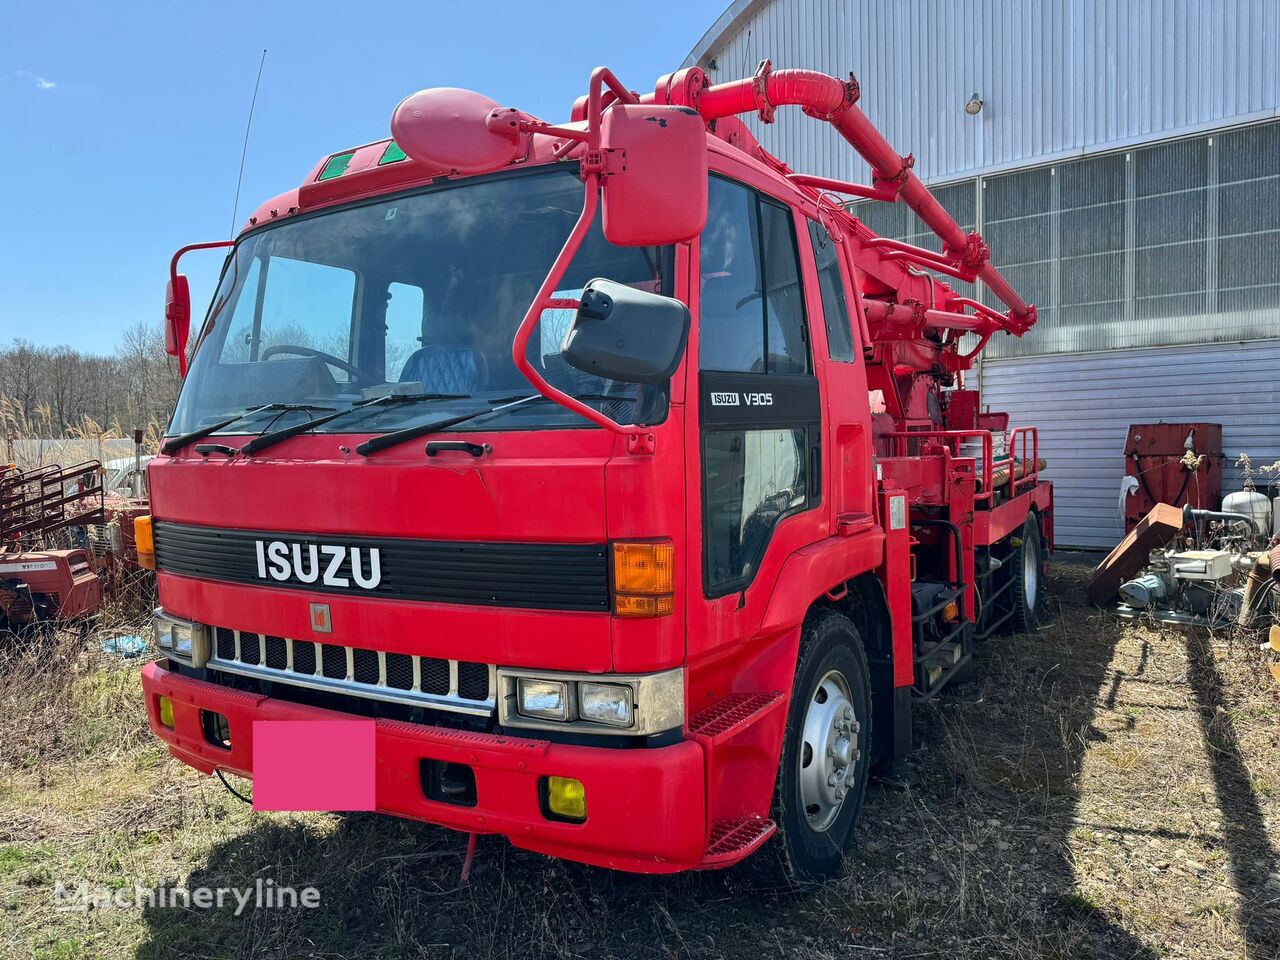
<path id="1" fill-rule="evenodd" d="M 831 827 L 854 785 L 860 730 L 849 681 L 829 671 L 809 699 L 801 728 L 800 804 L 814 832 Z"/>

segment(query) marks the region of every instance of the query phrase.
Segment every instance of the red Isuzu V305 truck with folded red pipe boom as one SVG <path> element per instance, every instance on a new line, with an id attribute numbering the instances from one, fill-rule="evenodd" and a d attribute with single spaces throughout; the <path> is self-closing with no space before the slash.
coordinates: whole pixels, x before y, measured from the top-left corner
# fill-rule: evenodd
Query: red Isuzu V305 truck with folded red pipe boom
<path id="1" fill-rule="evenodd" d="M 975 643 L 1034 626 L 1052 545 L 1036 430 L 964 388 L 1034 307 L 858 99 L 768 61 L 643 95 L 600 68 L 562 124 L 426 90 L 180 251 L 138 526 L 172 753 L 251 777 L 256 722 L 365 718 L 384 813 L 625 870 L 768 844 L 838 872 L 869 769 Z M 740 118 L 781 108 L 872 184 L 764 151 Z M 232 250 L 188 349 L 201 246 Z"/>

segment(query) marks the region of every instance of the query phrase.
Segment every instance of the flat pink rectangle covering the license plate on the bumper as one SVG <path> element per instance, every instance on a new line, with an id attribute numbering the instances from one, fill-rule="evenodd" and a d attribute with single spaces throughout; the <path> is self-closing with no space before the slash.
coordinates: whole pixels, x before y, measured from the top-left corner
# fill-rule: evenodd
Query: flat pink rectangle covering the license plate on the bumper
<path id="1" fill-rule="evenodd" d="M 253 721 L 255 810 L 372 810 L 372 721 Z"/>

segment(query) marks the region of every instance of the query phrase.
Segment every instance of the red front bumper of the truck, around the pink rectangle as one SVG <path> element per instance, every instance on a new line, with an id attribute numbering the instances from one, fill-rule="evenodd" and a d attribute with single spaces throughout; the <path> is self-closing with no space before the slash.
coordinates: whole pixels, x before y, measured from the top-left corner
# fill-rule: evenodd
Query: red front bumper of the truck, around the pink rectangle
<path id="1" fill-rule="evenodd" d="M 339 719 L 347 714 L 228 690 L 164 669 L 142 668 L 147 719 L 169 751 L 204 773 L 252 776 L 253 721 Z M 173 701 L 173 730 L 159 717 L 159 696 Z M 232 749 L 205 740 L 201 709 L 227 717 Z M 378 810 L 474 833 L 502 833 L 516 846 L 596 867 L 669 873 L 696 867 L 707 849 L 703 749 L 686 740 L 655 749 L 568 746 L 545 740 L 468 733 L 421 723 L 376 724 Z M 465 763 L 475 771 L 475 806 L 428 800 L 420 762 Z M 557 823 L 541 813 L 544 776 L 580 780 L 585 823 Z"/>

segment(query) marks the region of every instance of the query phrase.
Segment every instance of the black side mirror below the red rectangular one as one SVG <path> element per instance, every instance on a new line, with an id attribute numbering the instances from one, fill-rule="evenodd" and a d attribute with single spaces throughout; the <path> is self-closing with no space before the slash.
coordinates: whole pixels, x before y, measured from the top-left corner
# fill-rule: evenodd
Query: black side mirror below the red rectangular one
<path id="1" fill-rule="evenodd" d="M 607 380 L 659 384 L 680 366 L 689 324 L 689 307 L 678 300 L 596 279 L 582 291 L 561 356 Z"/>

